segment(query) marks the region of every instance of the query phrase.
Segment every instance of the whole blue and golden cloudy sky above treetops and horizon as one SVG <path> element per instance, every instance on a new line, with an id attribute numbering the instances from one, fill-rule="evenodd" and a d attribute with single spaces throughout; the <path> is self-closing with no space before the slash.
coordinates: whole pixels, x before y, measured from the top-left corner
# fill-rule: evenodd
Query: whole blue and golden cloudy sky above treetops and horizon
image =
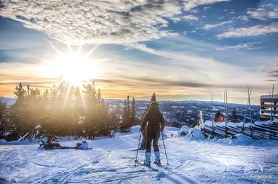
<path id="1" fill-rule="evenodd" d="M 251 103 L 278 92 L 278 1 L 11 1 L 0 4 L 0 96 L 58 77 L 104 98 Z"/>

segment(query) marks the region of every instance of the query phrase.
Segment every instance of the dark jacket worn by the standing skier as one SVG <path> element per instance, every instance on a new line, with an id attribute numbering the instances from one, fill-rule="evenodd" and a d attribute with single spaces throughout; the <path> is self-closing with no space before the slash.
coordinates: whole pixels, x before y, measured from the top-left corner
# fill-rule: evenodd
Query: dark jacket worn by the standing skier
<path id="1" fill-rule="evenodd" d="M 142 131 L 146 129 L 146 131 L 163 131 L 164 127 L 165 127 L 165 120 L 163 114 L 161 114 L 159 110 L 153 110 L 145 114 L 145 117 L 141 123 L 140 130 Z"/>

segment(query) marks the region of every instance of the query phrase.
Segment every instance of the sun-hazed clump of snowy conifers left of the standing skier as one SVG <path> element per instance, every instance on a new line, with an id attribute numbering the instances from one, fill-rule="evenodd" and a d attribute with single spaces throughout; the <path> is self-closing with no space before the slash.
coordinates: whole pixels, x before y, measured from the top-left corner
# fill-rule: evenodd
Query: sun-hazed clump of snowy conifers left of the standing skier
<path id="1" fill-rule="evenodd" d="M 109 110 L 94 81 L 82 89 L 61 82 L 44 93 L 39 88 L 23 88 L 19 83 L 13 93 L 13 105 L 0 100 L 0 138 L 6 140 L 23 136 L 32 140 L 46 133 L 89 139 L 112 137 L 116 131 L 129 131 L 139 124 L 134 98 L 127 96 L 122 110 Z"/>

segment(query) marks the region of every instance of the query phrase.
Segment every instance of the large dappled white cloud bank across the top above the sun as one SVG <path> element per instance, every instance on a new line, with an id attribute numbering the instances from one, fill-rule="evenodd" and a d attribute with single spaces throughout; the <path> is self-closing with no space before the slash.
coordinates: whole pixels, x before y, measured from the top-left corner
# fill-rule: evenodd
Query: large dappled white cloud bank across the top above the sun
<path id="1" fill-rule="evenodd" d="M 172 35 L 161 29 L 168 18 L 176 18 L 204 4 L 226 0 L 199 1 L 4 1 L 1 16 L 49 37 L 70 44 L 122 44 L 149 41 Z"/>

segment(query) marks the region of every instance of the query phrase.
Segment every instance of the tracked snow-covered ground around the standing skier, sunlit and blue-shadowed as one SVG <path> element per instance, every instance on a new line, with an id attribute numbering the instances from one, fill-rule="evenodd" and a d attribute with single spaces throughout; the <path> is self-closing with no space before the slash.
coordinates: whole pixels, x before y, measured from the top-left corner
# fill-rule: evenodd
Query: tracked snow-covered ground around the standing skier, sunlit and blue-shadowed
<path id="1" fill-rule="evenodd" d="M 171 134 L 173 133 L 173 138 Z M 0 144 L 0 183 L 275 183 L 278 142 L 187 140 L 168 127 L 170 166 L 158 171 L 134 166 L 139 127 L 115 138 L 88 140 L 93 150 L 39 150 L 35 143 Z M 73 146 L 77 141 L 62 141 Z M 160 138 L 162 164 L 167 166 Z M 152 159 L 154 155 L 152 153 Z M 144 161 L 144 151 L 139 151 Z M 266 180 L 262 180 L 266 178 Z"/>

